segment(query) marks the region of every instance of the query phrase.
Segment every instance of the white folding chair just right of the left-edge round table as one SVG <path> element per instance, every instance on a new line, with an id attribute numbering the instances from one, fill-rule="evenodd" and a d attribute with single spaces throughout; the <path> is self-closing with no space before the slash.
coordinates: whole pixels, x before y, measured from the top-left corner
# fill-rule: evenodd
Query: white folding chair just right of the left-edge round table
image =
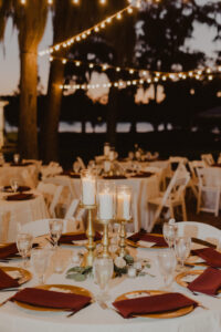
<path id="1" fill-rule="evenodd" d="M 36 189 L 42 193 L 49 214 L 52 218 L 56 218 L 56 207 L 61 198 L 63 186 L 56 186 L 54 184 L 45 184 L 40 181 Z"/>

